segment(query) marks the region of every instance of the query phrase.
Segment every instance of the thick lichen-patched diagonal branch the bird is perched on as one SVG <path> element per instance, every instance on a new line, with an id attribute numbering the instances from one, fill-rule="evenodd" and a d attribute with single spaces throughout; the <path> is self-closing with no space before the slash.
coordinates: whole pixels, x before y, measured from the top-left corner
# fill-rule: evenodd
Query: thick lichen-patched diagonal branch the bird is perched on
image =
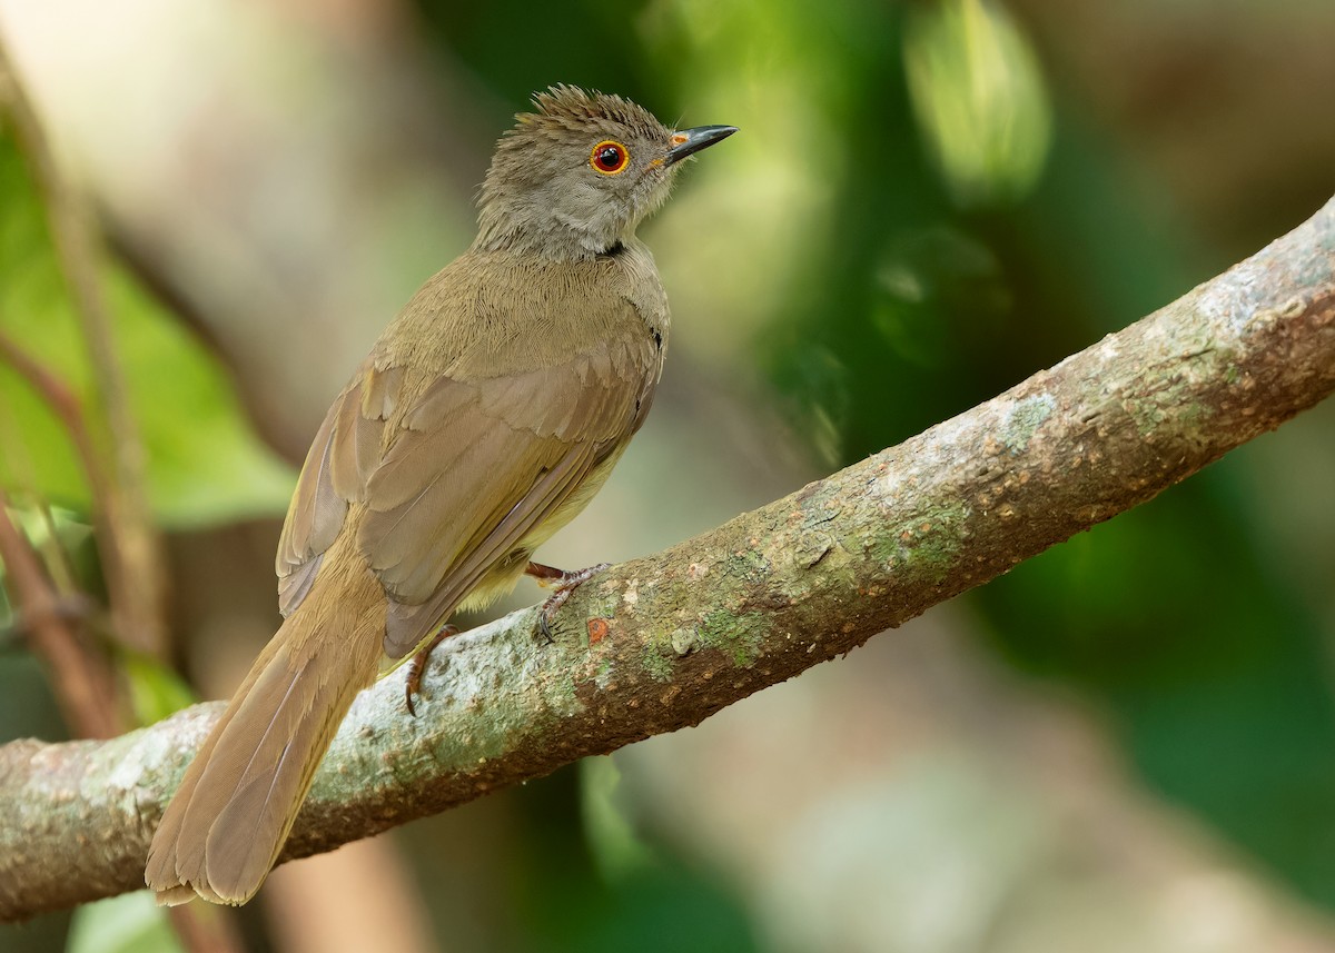
<path id="1" fill-rule="evenodd" d="M 400 669 L 358 698 L 284 857 L 696 725 L 1143 503 L 1332 390 L 1335 200 L 1005 394 L 609 570 L 567 603 L 553 645 L 533 610 L 449 639 L 417 718 Z M 222 707 L 107 742 L 0 749 L 0 920 L 140 886 L 154 825 Z"/>

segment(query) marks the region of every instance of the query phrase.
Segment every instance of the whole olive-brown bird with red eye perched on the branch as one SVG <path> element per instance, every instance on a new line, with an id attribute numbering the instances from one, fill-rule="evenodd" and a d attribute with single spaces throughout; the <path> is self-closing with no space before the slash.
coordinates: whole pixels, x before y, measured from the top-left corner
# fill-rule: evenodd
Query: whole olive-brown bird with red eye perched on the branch
<path id="1" fill-rule="evenodd" d="M 358 691 L 458 609 L 510 591 L 639 430 L 668 300 L 635 226 L 681 160 L 669 129 L 558 85 L 497 144 L 478 238 L 384 330 L 330 407 L 278 547 L 286 621 L 191 762 L 148 852 L 159 902 L 244 904 Z"/>

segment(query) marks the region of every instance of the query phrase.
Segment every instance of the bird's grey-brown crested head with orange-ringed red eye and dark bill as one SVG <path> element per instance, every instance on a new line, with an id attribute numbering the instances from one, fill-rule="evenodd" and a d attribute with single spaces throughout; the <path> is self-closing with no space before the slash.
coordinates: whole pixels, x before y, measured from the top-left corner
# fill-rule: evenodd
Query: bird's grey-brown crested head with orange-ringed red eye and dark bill
<path id="1" fill-rule="evenodd" d="M 482 186 L 474 248 L 546 258 L 603 255 L 668 198 L 681 160 L 737 129 L 669 129 L 643 107 L 569 85 L 533 97 L 535 112 L 497 143 Z"/>

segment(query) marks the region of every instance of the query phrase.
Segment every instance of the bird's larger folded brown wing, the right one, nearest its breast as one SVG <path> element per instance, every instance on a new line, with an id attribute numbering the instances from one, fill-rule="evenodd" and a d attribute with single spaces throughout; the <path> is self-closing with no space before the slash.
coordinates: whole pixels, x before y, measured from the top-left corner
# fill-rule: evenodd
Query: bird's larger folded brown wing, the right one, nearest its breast
<path id="1" fill-rule="evenodd" d="M 402 658 L 634 432 L 657 380 L 647 331 L 507 376 L 442 376 L 367 483 L 358 542 Z"/>

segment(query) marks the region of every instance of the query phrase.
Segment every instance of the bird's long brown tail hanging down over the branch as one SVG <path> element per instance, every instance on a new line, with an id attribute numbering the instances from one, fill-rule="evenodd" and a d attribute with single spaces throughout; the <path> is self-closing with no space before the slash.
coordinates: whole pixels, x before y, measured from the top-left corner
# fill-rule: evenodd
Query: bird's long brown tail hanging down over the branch
<path id="1" fill-rule="evenodd" d="M 364 593 L 316 585 L 214 725 L 148 849 L 159 904 L 244 904 L 264 882 L 343 715 L 375 681 L 383 611 L 376 627 L 371 607 L 383 593 L 364 575 L 354 586 Z"/>

